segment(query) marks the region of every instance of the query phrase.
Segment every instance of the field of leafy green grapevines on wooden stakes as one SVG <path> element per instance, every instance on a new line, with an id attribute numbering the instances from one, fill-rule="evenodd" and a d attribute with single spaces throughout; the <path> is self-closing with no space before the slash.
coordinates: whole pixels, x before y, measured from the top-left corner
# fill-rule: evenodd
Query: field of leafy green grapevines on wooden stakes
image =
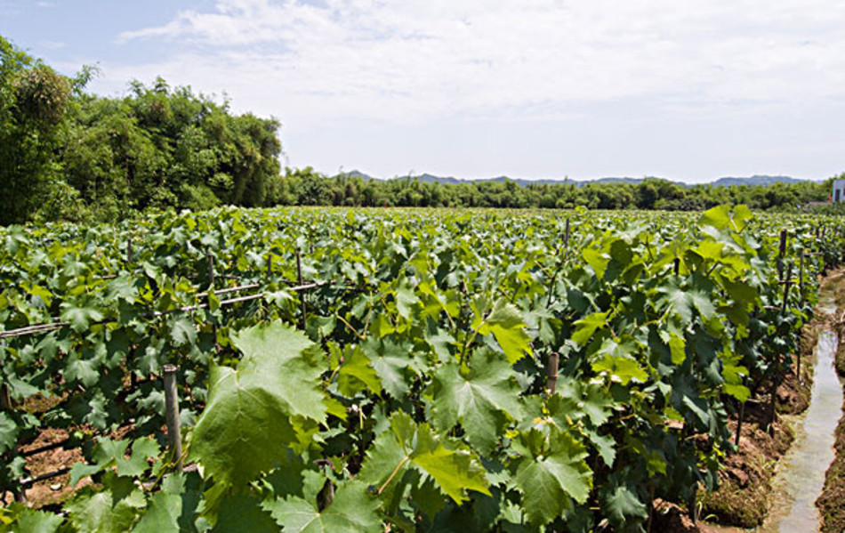
<path id="1" fill-rule="evenodd" d="M 0 530 L 646 529 L 715 489 L 729 416 L 775 415 L 843 229 L 737 206 L 0 230 Z M 47 428 L 85 462 L 34 510 Z"/>

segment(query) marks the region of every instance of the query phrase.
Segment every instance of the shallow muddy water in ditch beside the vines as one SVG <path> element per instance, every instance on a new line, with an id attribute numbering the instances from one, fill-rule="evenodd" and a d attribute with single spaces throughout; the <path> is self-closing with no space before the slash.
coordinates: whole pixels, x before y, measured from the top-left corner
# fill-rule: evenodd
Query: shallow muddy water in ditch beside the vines
<path id="1" fill-rule="evenodd" d="M 842 385 L 833 367 L 837 344 L 836 334 L 830 330 L 818 338 L 812 400 L 806 416 L 795 428 L 793 448 L 782 459 L 785 464 L 776 478 L 780 496 L 759 533 L 818 530 L 815 502 L 822 493 L 825 472 L 833 462 L 833 432 L 841 416 Z"/>

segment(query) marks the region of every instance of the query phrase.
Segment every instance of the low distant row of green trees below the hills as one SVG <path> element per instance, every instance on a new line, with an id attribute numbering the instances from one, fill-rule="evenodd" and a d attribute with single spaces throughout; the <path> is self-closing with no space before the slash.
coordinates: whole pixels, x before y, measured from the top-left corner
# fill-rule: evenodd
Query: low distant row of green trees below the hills
<path id="1" fill-rule="evenodd" d="M 845 174 L 842 175 L 845 177 Z M 772 185 L 684 186 L 660 179 L 641 182 L 531 183 L 512 180 L 441 184 L 414 177 L 372 180 L 358 174 L 328 177 L 310 167 L 286 168 L 276 202 L 289 206 L 437 206 L 568 209 L 663 209 L 699 211 L 745 204 L 752 209 L 801 209 L 825 200 L 825 182 Z"/>

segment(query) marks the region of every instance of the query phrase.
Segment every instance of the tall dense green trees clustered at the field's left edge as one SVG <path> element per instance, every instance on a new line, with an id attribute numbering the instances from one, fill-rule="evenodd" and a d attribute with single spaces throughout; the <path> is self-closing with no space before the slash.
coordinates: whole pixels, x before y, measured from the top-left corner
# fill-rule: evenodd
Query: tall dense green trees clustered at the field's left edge
<path id="1" fill-rule="evenodd" d="M 0 36 L 0 223 L 273 201 L 278 120 L 161 78 L 96 96 L 93 74 L 60 76 Z"/>

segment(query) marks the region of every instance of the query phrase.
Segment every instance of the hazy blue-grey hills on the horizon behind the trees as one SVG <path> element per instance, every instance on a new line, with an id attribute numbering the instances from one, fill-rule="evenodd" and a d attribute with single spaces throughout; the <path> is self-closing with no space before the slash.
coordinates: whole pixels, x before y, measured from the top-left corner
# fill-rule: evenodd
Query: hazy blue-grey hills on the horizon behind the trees
<path id="1" fill-rule="evenodd" d="M 353 170 L 349 173 L 345 173 L 345 175 L 349 176 L 359 176 L 365 180 L 379 180 L 382 181 L 382 178 L 376 178 L 374 176 L 370 176 L 368 174 L 364 174 L 362 172 L 358 172 L 357 170 Z M 561 183 L 571 183 L 575 185 L 575 187 L 583 187 L 589 183 L 630 183 L 632 185 L 636 185 L 640 182 L 644 182 L 645 180 L 664 180 L 667 182 L 676 183 L 683 187 L 694 187 L 696 185 L 712 185 L 715 187 L 732 187 L 735 185 L 771 185 L 773 183 L 798 183 L 798 182 L 809 182 L 809 180 L 801 180 L 798 178 L 791 178 L 789 176 L 766 176 L 766 175 L 753 175 L 751 177 L 746 178 L 736 178 L 736 177 L 722 177 L 712 182 L 707 183 L 684 183 L 684 182 L 675 182 L 672 180 L 667 180 L 666 178 L 658 178 L 655 176 L 647 176 L 644 178 L 617 178 L 617 177 L 608 177 L 608 178 L 599 178 L 596 180 L 552 180 L 552 179 L 542 179 L 542 180 L 525 180 L 521 178 L 509 178 L 508 176 L 499 176 L 497 178 L 482 178 L 479 180 L 462 180 L 459 178 L 455 178 L 452 176 L 442 177 L 442 176 L 435 176 L 432 174 L 420 174 L 420 175 L 413 175 L 413 176 L 398 176 L 395 178 L 389 178 L 391 180 L 406 180 L 408 177 L 419 180 L 420 182 L 425 183 L 440 183 L 443 185 L 457 185 L 459 183 L 473 183 L 473 182 L 505 182 L 511 181 L 516 182 L 517 185 L 520 187 L 527 187 L 528 185 L 533 184 L 561 184 Z"/>

